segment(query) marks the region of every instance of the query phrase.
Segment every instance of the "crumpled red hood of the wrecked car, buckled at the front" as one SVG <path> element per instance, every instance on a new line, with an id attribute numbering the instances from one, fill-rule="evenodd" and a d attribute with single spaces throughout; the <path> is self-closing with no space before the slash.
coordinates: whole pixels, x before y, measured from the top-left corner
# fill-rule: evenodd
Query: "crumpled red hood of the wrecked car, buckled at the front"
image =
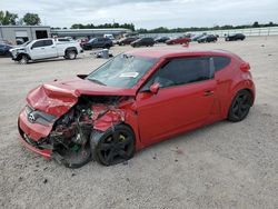
<path id="1" fill-rule="evenodd" d="M 61 117 L 78 102 L 81 96 L 135 96 L 133 89 L 119 89 L 97 84 L 76 78 L 69 81 L 53 81 L 31 90 L 27 102 L 34 109 Z"/>

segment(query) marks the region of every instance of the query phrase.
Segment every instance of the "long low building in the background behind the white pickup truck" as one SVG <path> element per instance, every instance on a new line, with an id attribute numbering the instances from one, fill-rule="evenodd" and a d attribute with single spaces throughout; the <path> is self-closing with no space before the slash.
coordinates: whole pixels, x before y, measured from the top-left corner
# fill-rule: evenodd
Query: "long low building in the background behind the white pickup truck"
<path id="1" fill-rule="evenodd" d="M 51 29 L 52 37 L 71 37 L 73 39 L 95 37 L 103 37 L 105 34 L 112 34 L 116 37 L 122 37 L 125 33 L 130 33 L 131 30 L 125 28 L 107 28 L 107 29 Z"/>

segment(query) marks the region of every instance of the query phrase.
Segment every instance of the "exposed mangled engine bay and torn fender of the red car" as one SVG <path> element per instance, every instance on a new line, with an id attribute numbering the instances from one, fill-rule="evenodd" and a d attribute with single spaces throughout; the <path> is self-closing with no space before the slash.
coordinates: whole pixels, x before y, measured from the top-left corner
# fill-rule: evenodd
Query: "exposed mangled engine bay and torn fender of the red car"
<path id="1" fill-rule="evenodd" d="M 115 126 L 125 121 L 125 113 L 118 108 L 127 97 L 98 96 L 80 97 L 78 102 L 53 123 L 49 136 L 36 143 L 37 148 L 51 150 L 51 157 L 66 167 L 79 168 L 90 161 L 90 136 L 98 120 L 110 115 L 106 122 Z M 33 145 L 34 146 L 34 145 Z"/>

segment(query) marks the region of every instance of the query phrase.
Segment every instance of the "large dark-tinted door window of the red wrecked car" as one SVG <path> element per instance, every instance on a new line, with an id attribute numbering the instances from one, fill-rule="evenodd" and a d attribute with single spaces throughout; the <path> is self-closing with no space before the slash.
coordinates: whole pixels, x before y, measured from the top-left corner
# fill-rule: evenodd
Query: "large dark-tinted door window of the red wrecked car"
<path id="1" fill-rule="evenodd" d="M 158 71 L 153 82 L 163 88 L 208 80 L 211 78 L 209 60 L 208 57 L 173 59 Z"/>

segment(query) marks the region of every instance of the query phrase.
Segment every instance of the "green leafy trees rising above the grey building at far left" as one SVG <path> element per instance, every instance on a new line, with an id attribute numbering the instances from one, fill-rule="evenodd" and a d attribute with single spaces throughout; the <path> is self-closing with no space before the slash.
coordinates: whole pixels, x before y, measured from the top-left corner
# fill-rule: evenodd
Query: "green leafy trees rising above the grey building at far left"
<path id="1" fill-rule="evenodd" d="M 40 17 L 37 13 L 26 13 L 22 18 L 19 18 L 17 13 L 9 11 L 0 11 L 0 26 L 37 26 L 40 24 Z"/>

